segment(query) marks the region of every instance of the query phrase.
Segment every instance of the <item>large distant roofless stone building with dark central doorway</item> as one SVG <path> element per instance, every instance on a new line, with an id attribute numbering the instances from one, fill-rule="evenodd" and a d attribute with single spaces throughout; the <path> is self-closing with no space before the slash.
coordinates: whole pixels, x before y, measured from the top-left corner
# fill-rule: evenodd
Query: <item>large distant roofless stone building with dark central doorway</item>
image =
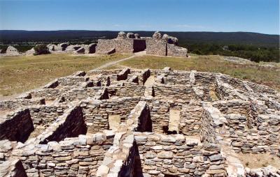
<path id="1" fill-rule="evenodd" d="M 179 47 L 178 39 L 167 34 L 155 32 L 153 38 L 140 37 L 139 34 L 121 31 L 115 39 L 99 39 L 97 53 L 108 54 L 111 51 L 134 53 L 146 50 L 147 54 L 160 56 L 188 56 L 188 49 Z"/>

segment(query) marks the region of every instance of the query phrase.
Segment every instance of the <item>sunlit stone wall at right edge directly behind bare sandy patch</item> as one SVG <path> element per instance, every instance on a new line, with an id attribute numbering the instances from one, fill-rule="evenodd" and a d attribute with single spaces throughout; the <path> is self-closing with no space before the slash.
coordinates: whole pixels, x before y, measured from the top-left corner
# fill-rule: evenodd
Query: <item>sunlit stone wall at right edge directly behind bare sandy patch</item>
<path id="1" fill-rule="evenodd" d="M 257 127 L 247 128 L 246 117 L 239 114 L 225 116 L 230 128 L 231 145 L 239 153 L 272 153 L 279 155 L 280 115 L 260 114 Z"/>

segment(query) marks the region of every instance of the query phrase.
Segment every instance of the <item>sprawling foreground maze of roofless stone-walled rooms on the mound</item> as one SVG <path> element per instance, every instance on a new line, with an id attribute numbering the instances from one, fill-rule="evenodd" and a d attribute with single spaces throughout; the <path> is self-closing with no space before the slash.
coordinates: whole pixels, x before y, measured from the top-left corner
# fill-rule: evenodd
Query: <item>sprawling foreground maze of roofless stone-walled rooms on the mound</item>
<path id="1" fill-rule="evenodd" d="M 280 176 L 238 158 L 279 160 L 279 93 L 228 75 L 75 72 L 0 113 L 0 176 Z"/>

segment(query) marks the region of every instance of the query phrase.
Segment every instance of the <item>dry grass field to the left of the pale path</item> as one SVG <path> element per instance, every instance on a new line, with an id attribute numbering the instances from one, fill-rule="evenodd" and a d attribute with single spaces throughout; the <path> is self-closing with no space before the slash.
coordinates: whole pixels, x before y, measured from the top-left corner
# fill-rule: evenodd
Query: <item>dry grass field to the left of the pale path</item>
<path id="1" fill-rule="evenodd" d="M 22 93 L 70 75 L 78 70 L 92 70 L 104 63 L 116 61 L 129 54 L 110 56 L 74 56 L 48 54 L 41 56 L 2 56 L 0 58 L 0 95 Z"/>

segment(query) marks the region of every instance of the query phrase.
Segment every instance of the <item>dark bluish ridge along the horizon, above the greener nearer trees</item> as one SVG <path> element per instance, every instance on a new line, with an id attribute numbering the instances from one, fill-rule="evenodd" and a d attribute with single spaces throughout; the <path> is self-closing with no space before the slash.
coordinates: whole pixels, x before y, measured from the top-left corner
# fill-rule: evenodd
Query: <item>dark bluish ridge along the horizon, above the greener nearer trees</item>
<path id="1" fill-rule="evenodd" d="M 154 31 L 131 31 L 140 36 L 152 36 Z M 246 44 L 268 47 L 279 47 L 279 35 L 251 32 L 170 32 L 161 31 L 179 38 L 179 43 L 220 43 Z M 59 30 L 59 31 L 25 31 L 0 30 L 0 42 L 23 41 L 66 41 L 83 38 L 116 38 L 118 31 L 87 31 L 87 30 Z"/>

